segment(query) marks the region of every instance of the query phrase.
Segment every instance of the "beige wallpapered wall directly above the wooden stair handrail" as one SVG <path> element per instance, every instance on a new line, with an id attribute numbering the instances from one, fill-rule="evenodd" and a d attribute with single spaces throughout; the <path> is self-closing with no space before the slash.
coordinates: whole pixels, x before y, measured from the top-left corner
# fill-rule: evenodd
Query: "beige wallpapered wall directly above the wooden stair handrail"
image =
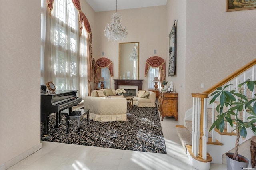
<path id="1" fill-rule="evenodd" d="M 226 12 L 225 0 L 193 0 L 186 6 L 185 99 L 189 109 L 191 93 L 205 91 L 256 57 L 256 10 Z"/>

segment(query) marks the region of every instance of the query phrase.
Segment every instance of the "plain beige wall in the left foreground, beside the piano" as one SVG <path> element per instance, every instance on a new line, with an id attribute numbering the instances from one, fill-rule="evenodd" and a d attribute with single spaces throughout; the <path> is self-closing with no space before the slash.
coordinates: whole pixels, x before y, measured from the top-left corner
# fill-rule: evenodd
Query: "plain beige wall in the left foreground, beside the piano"
<path id="1" fill-rule="evenodd" d="M 0 6 L 0 169 L 41 148 L 40 10 L 34 0 Z"/>

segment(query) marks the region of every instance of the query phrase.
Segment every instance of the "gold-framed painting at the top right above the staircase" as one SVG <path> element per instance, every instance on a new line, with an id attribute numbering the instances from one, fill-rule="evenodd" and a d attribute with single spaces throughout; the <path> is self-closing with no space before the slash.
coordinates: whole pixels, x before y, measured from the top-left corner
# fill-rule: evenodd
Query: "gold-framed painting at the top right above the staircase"
<path id="1" fill-rule="evenodd" d="M 226 11 L 256 9 L 256 0 L 226 0 Z"/>

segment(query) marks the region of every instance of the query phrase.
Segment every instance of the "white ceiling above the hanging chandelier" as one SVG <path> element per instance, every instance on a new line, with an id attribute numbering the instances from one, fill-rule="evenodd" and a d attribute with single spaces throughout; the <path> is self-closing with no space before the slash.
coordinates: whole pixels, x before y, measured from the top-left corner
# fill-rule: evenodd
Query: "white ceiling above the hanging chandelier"
<path id="1" fill-rule="evenodd" d="M 86 0 L 95 12 L 116 10 L 116 0 Z M 118 0 L 117 10 L 166 5 L 167 0 Z"/>

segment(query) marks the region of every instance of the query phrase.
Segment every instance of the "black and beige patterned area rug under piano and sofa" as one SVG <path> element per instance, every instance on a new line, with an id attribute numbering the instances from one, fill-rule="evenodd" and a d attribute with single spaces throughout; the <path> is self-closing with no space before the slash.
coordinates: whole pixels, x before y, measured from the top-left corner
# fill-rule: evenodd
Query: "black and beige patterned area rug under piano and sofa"
<path id="1" fill-rule="evenodd" d="M 55 115 L 50 116 L 48 136 L 44 137 L 41 123 L 41 140 L 67 144 L 80 144 L 122 150 L 134 150 L 166 154 L 166 146 L 159 120 L 158 109 L 127 106 L 125 122 L 95 122 L 87 116 L 81 120 L 80 134 L 76 120 L 70 120 L 69 134 L 66 134 L 66 115 L 62 115 L 62 125 L 54 128 Z"/>

